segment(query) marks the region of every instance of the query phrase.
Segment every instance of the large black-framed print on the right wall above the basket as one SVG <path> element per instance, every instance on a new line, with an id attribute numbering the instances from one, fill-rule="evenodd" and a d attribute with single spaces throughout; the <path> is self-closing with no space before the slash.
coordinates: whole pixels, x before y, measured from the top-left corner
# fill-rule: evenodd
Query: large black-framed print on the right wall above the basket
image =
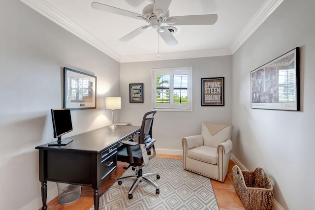
<path id="1" fill-rule="evenodd" d="M 299 48 L 251 71 L 251 108 L 300 111 Z"/>

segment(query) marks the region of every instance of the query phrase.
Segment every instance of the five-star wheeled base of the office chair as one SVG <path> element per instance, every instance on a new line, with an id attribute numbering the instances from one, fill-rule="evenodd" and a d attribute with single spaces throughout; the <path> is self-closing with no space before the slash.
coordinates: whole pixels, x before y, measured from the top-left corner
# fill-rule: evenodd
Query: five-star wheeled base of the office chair
<path id="1" fill-rule="evenodd" d="M 136 175 L 133 176 L 127 176 L 127 177 L 122 177 L 119 178 L 118 184 L 121 185 L 123 182 L 122 180 L 129 180 L 129 179 L 135 179 L 135 181 L 133 182 L 131 188 L 129 189 L 128 192 L 128 199 L 132 198 L 132 192 L 133 190 L 138 186 L 139 182 L 141 182 L 142 180 L 146 181 L 147 183 L 151 184 L 152 186 L 156 187 L 156 193 L 159 194 L 159 187 L 158 184 L 156 184 L 155 182 L 153 182 L 152 180 L 148 179 L 148 176 L 157 176 L 157 179 L 160 178 L 160 176 L 158 175 L 158 173 L 146 173 L 146 174 L 142 174 L 142 169 L 138 169 L 136 171 Z"/>

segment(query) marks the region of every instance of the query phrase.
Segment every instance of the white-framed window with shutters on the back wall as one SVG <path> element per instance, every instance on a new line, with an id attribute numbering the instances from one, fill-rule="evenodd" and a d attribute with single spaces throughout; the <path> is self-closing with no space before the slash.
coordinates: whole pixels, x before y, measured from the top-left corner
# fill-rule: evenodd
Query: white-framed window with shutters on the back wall
<path id="1" fill-rule="evenodd" d="M 152 77 L 153 109 L 191 111 L 191 67 L 156 68 Z"/>

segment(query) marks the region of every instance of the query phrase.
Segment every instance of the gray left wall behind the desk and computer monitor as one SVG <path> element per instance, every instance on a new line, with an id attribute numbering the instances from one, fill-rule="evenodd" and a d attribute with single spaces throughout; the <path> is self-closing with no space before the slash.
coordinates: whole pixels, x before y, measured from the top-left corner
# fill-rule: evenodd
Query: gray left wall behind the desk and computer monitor
<path id="1" fill-rule="evenodd" d="M 35 147 L 53 138 L 63 66 L 97 76 L 97 109 L 71 112 L 74 135 L 110 123 L 104 97 L 120 93 L 120 64 L 19 0 L 0 1 L 0 29 L 0 209 L 33 210 L 41 207 Z M 49 182 L 48 201 L 56 196 Z"/>

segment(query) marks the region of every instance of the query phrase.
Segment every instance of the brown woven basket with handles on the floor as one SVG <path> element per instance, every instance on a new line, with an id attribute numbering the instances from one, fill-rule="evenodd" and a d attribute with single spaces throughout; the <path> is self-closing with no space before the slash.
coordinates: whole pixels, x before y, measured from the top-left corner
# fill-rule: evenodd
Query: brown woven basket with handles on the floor
<path id="1" fill-rule="evenodd" d="M 233 183 L 246 210 L 270 210 L 274 192 L 267 173 L 262 168 L 241 171 L 233 166 Z"/>

